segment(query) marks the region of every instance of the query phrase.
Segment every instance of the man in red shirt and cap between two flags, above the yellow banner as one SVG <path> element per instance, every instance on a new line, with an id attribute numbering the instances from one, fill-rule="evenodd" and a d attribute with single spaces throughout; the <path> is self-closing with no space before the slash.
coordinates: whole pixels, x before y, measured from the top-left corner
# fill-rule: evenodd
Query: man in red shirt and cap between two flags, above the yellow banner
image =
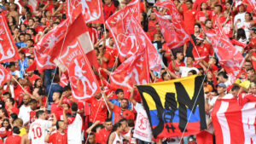
<path id="1" fill-rule="evenodd" d="M 192 50 L 192 54 L 194 55 L 195 58 L 195 63 L 196 63 L 196 68 L 206 68 L 202 63 L 199 63 L 198 60 L 204 60 L 208 63 L 209 61 L 209 55 L 213 55 L 213 49 L 212 47 L 204 43 L 204 38 L 202 34 L 199 36 L 195 37 L 196 39 L 196 46 Z"/>

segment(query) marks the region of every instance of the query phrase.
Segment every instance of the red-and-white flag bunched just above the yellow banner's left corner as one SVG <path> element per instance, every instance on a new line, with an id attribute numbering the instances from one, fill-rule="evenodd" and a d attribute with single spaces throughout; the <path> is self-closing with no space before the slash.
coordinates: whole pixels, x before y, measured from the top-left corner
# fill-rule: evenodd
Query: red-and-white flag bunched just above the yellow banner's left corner
<path id="1" fill-rule="evenodd" d="M 131 89 L 134 84 L 148 84 L 147 49 L 132 55 L 114 70 L 110 75 L 110 83 L 113 87 L 122 89 Z"/>

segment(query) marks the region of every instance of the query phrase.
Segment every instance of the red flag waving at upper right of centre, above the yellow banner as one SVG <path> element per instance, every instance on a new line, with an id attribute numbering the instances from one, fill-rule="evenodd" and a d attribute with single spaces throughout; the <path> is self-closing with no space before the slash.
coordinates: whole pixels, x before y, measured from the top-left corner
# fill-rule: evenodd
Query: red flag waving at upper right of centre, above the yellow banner
<path id="1" fill-rule="evenodd" d="M 157 11 L 155 11 L 154 14 L 168 47 L 175 49 L 189 42 L 189 35 L 184 32 L 183 29 L 174 26 L 171 19 L 166 17 L 168 15 L 162 15 Z"/>

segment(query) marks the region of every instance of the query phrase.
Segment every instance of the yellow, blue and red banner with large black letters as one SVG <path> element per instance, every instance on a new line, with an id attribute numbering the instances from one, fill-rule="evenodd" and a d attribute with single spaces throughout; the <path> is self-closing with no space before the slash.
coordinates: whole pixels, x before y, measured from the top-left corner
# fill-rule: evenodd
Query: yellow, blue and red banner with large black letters
<path id="1" fill-rule="evenodd" d="M 137 86 L 154 138 L 195 135 L 207 129 L 202 80 L 194 75 Z"/>

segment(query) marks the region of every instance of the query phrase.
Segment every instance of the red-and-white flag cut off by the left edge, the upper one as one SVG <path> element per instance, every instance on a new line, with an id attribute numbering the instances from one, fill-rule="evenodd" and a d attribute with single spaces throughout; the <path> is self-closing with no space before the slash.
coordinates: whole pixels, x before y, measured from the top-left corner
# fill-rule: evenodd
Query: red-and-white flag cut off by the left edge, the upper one
<path id="1" fill-rule="evenodd" d="M 9 32 L 9 27 L 3 13 L 0 14 L 0 62 L 19 60 L 18 49 Z"/>

